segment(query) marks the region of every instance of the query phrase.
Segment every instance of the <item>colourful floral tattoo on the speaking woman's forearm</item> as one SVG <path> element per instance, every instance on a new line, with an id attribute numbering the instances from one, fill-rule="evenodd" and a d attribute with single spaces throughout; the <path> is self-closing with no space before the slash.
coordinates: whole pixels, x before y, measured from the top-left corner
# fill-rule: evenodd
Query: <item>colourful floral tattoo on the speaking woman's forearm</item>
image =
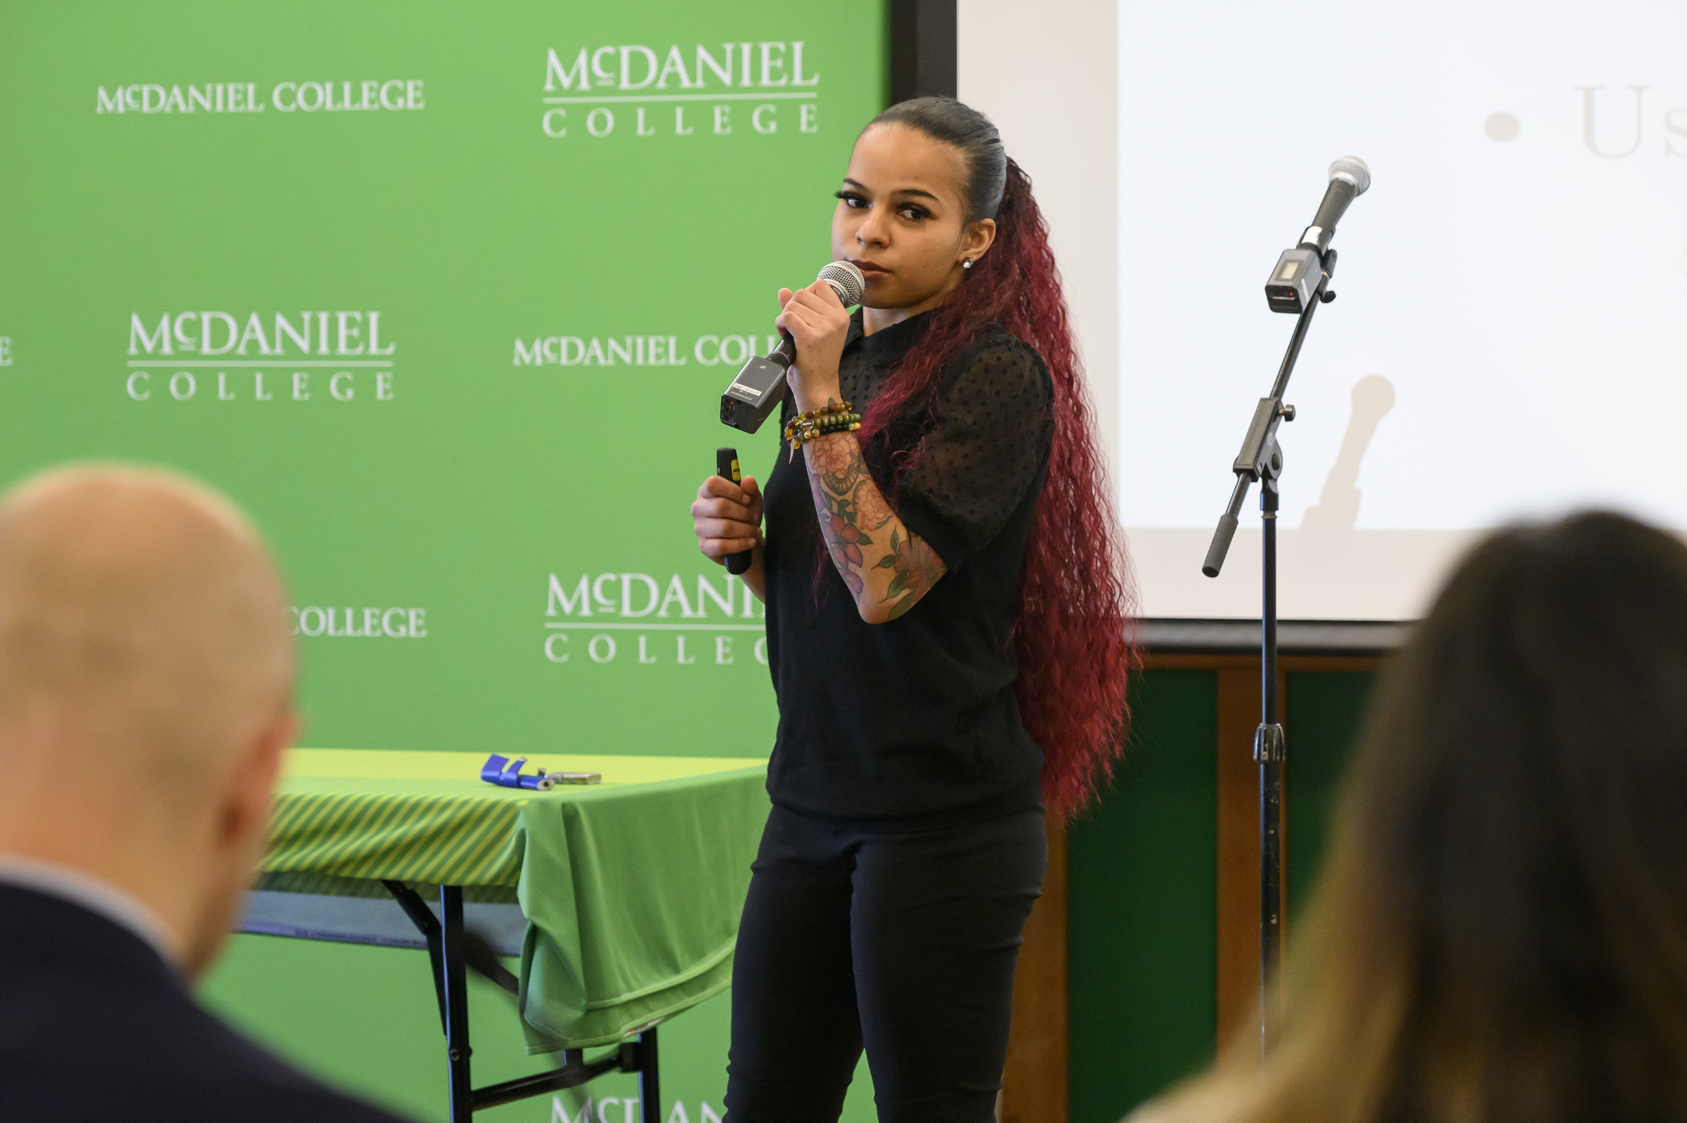
<path id="1" fill-rule="evenodd" d="M 862 617 L 889 605 L 894 621 L 931 592 L 943 558 L 903 524 L 872 482 L 854 433 L 827 433 L 803 445 L 808 486 L 832 563 Z"/>

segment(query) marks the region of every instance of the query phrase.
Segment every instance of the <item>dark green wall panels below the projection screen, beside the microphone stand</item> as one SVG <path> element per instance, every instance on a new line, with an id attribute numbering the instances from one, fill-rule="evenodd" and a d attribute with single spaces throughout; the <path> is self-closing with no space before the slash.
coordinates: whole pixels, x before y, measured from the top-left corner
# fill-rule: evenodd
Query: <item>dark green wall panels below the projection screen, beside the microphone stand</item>
<path id="1" fill-rule="evenodd" d="M 1289 674 L 1291 922 L 1368 673 Z M 1149 671 L 1100 804 L 1070 833 L 1071 1123 L 1112 1123 L 1208 1064 L 1216 1045 L 1218 673 Z"/>

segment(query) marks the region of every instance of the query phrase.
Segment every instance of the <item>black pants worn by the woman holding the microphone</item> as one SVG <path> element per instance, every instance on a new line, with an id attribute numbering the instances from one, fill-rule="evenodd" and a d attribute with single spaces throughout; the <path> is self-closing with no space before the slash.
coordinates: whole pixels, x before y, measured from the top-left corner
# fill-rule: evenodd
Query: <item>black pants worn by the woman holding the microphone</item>
<path id="1" fill-rule="evenodd" d="M 727 1123 L 835 1123 L 862 1047 L 879 1120 L 989 1123 L 1043 811 L 867 833 L 779 808 L 732 961 Z"/>

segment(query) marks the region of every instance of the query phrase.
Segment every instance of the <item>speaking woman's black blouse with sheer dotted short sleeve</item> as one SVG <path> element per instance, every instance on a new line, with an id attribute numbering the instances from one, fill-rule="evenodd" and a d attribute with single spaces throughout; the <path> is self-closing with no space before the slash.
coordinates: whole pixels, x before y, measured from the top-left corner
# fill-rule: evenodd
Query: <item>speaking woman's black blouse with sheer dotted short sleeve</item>
<path id="1" fill-rule="evenodd" d="M 930 322 L 872 336 L 860 312 L 838 364 L 857 411 Z M 924 452 L 894 508 L 946 573 L 904 615 L 860 619 L 822 553 L 801 452 L 779 447 L 766 482 L 768 658 L 779 733 L 768 793 L 844 823 L 919 830 L 1041 804 L 1043 750 L 1014 698 L 1014 615 L 1031 516 L 1048 469 L 1054 391 L 1029 344 L 989 327 L 943 373 L 936 398 L 864 447 L 889 497 L 891 455 Z M 786 398 L 781 427 L 795 406 Z"/>

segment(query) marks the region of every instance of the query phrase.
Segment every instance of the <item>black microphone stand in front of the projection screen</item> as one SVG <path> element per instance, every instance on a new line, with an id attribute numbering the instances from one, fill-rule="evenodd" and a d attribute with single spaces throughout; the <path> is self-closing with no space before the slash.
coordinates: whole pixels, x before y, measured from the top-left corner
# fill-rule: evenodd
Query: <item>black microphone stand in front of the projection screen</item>
<path id="1" fill-rule="evenodd" d="M 1284 405 L 1289 374 L 1301 357 L 1301 344 L 1312 325 L 1319 304 L 1329 304 L 1336 293 L 1328 292 L 1329 275 L 1336 271 L 1336 251 L 1326 250 L 1321 265 L 1323 277 L 1312 298 L 1306 302 L 1289 337 L 1289 351 L 1277 368 L 1277 381 L 1270 396 L 1260 398 L 1242 440 L 1242 452 L 1232 470 L 1237 474 L 1230 506 L 1218 519 L 1213 543 L 1206 550 L 1201 572 L 1218 577 L 1237 533 L 1242 501 L 1248 487 L 1260 486 L 1260 727 L 1253 732 L 1253 760 L 1260 766 L 1260 1056 L 1267 1056 L 1275 1032 L 1270 1017 L 1270 985 L 1282 968 L 1282 769 L 1287 744 L 1277 707 L 1277 479 L 1282 476 L 1282 449 L 1277 445 L 1277 425 L 1294 420 L 1294 406 Z"/>

